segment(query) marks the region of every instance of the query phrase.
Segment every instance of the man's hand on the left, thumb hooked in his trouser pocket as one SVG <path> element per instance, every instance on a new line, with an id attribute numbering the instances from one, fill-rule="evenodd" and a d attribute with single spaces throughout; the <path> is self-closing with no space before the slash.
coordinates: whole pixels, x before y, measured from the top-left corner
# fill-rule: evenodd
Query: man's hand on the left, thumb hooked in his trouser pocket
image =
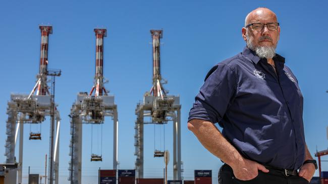
<path id="1" fill-rule="evenodd" d="M 250 180 L 255 178 L 258 175 L 258 170 L 269 172 L 269 170 L 263 165 L 246 158 L 243 158 L 242 162 L 236 162 L 236 164 L 231 167 L 236 178 L 240 180 Z"/>

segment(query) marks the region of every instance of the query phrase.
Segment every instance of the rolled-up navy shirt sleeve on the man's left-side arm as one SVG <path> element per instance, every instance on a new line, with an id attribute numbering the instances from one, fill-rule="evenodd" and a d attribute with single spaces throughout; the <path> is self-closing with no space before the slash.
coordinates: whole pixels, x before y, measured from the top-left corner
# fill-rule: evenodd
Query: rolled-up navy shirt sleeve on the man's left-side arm
<path id="1" fill-rule="evenodd" d="M 233 102 L 237 91 L 235 71 L 224 63 L 218 63 L 207 74 L 195 103 L 189 112 L 188 122 L 201 119 L 220 122 Z"/>

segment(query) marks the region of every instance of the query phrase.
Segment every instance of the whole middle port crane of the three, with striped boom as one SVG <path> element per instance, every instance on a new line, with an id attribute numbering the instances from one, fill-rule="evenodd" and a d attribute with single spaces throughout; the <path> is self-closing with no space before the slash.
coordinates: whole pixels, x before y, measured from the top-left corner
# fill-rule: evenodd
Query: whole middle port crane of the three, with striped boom
<path id="1" fill-rule="evenodd" d="M 69 115 L 71 118 L 71 161 L 69 162 L 70 176 L 68 180 L 74 184 L 81 183 L 83 124 L 101 125 L 104 123 L 105 116 L 112 117 L 114 121 L 113 169 L 117 169 L 118 166 L 117 105 L 114 103 L 114 95 L 109 95 L 108 90 L 105 89 L 104 83 L 107 81 L 103 77 L 103 38 L 106 37 L 107 30 L 96 28 L 94 32 L 96 36 L 94 84 L 89 94 L 78 93 Z M 102 155 L 91 153 L 91 161 L 102 161 Z"/>

